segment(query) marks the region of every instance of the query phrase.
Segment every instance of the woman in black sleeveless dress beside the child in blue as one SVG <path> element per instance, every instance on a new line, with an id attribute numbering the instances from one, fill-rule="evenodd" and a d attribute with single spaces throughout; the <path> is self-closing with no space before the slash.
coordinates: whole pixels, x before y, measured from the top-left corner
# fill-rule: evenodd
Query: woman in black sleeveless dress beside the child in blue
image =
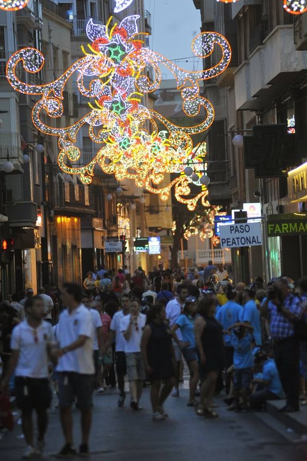
<path id="1" fill-rule="evenodd" d="M 215 300 L 202 298 L 197 306 L 199 317 L 195 320 L 195 339 L 201 379 L 200 403 L 197 414 L 217 417 L 212 411 L 212 400 L 217 377 L 224 366 L 223 327 L 215 319 Z"/>

